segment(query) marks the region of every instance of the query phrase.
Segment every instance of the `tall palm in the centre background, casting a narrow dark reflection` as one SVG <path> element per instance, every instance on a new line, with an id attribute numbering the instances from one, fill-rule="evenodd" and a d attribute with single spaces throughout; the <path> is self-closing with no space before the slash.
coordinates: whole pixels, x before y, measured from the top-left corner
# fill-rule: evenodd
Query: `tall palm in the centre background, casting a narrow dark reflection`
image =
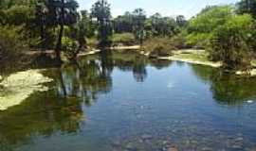
<path id="1" fill-rule="evenodd" d="M 137 8 L 133 11 L 133 32 L 139 42 L 142 45 L 144 39 L 144 25 L 146 21 L 146 12 L 142 8 Z"/>

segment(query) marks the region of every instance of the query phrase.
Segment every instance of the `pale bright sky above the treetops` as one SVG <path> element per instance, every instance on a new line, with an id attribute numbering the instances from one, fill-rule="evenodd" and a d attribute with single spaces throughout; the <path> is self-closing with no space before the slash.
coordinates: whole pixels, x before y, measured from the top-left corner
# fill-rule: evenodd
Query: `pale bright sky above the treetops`
<path id="1" fill-rule="evenodd" d="M 79 9 L 90 9 L 96 0 L 77 0 Z M 182 14 L 187 19 L 196 15 L 202 8 L 211 5 L 233 4 L 239 0 L 108 0 L 111 5 L 112 16 L 116 17 L 125 11 L 143 8 L 147 15 L 159 12 L 163 16 Z"/>

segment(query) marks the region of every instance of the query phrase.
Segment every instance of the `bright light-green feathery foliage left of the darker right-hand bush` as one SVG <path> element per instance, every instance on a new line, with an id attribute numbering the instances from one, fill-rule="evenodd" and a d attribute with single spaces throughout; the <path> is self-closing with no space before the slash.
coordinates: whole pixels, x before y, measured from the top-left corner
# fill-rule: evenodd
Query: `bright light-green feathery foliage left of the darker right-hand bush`
<path id="1" fill-rule="evenodd" d="M 231 6 L 214 6 L 203 9 L 188 25 L 189 44 L 206 47 L 210 42 L 211 31 L 224 25 L 233 15 Z"/>

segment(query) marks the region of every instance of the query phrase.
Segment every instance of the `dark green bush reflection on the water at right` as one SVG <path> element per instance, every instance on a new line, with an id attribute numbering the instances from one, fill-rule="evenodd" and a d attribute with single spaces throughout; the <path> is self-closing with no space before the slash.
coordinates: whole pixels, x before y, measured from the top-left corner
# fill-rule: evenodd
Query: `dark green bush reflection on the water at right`
<path id="1" fill-rule="evenodd" d="M 256 98 L 256 78 L 239 78 L 212 68 L 191 66 L 198 78 L 210 84 L 210 91 L 220 104 L 239 106 Z"/>

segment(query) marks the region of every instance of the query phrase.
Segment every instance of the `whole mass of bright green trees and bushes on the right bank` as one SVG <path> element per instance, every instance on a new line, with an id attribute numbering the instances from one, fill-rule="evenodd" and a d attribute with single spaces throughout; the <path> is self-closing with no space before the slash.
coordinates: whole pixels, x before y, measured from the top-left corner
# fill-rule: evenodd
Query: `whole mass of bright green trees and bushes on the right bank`
<path id="1" fill-rule="evenodd" d="M 209 50 L 210 59 L 222 61 L 226 69 L 247 70 L 256 53 L 255 12 L 255 0 L 204 8 L 190 20 L 186 40 Z"/>

